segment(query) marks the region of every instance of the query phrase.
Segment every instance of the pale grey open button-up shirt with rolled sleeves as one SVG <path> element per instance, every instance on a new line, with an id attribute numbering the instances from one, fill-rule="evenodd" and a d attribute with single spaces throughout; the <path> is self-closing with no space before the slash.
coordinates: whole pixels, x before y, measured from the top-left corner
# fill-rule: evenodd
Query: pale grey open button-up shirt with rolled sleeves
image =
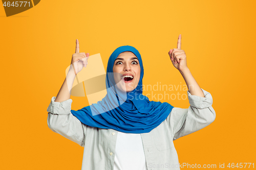
<path id="1" fill-rule="evenodd" d="M 190 104 L 187 109 L 174 107 L 158 127 L 140 134 L 148 170 L 180 169 L 173 140 L 214 122 L 212 96 L 205 90 L 203 92 L 205 98 L 187 91 Z M 84 125 L 71 113 L 72 99 L 60 103 L 54 100 L 53 96 L 47 108 L 48 127 L 84 147 L 82 170 L 113 170 L 118 131 Z"/>

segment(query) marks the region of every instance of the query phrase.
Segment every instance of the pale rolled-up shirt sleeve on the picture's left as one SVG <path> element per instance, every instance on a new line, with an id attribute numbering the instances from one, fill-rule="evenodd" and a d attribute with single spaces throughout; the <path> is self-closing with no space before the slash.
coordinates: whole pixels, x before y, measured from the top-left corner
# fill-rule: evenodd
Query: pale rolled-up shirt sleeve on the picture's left
<path id="1" fill-rule="evenodd" d="M 63 102 L 54 102 L 55 96 L 52 97 L 51 103 L 47 108 L 48 127 L 61 136 L 64 136 L 81 147 L 84 147 L 84 138 L 87 131 L 87 125 L 84 125 L 71 113 L 72 99 Z"/>

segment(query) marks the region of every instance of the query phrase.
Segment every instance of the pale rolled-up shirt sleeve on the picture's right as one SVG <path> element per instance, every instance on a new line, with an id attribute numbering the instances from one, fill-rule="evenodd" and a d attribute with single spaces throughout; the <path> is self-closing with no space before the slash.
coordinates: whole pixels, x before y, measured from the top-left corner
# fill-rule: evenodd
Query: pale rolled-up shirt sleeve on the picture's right
<path id="1" fill-rule="evenodd" d="M 191 95 L 187 91 L 190 104 L 188 109 L 174 107 L 168 115 L 167 123 L 170 132 L 173 134 L 173 140 L 196 132 L 214 122 L 216 113 L 211 106 L 213 102 L 212 96 L 205 90 L 203 92 L 205 98 Z"/>

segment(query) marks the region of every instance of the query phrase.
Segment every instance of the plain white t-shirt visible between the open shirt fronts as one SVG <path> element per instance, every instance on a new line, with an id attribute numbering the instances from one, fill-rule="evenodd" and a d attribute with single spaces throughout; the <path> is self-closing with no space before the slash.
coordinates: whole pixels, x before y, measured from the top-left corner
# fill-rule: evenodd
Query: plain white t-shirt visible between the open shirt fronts
<path id="1" fill-rule="evenodd" d="M 140 134 L 118 132 L 114 170 L 147 170 Z"/>

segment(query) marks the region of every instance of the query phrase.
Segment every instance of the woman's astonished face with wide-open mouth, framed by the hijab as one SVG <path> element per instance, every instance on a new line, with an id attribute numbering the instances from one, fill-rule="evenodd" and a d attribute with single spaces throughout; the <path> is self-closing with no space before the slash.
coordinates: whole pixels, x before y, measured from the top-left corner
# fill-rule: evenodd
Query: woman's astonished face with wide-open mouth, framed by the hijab
<path id="1" fill-rule="evenodd" d="M 113 72 L 121 74 L 114 75 L 116 85 L 120 90 L 127 92 L 134 90 L 140 80 L 140 64 L 138 58 L 132 52 L 120 53 L 114 62 Z M 118 83 L 122 79 L 124 80 L 124 84 Z"/>

